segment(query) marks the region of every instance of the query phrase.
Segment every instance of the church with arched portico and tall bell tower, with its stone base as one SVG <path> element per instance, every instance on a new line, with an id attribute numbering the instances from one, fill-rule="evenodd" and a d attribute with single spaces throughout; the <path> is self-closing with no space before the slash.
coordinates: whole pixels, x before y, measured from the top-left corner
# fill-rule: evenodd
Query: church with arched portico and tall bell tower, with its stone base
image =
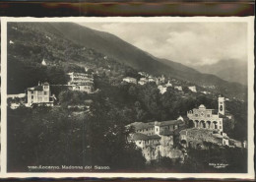
<path id="1" fill-rule="evenodd" d="M 224 122 L 230 122 L 232 115 L 225 109 L 225 98 L 220 96 L 219 109 L 207 109 L 201 104 L 187 112 L 192 128 L 180 131 L 180 143 L 185 148 L 209 149 L 215 146 L 241 148 L 241 142 L 230 139 L 224 133 Z"/>

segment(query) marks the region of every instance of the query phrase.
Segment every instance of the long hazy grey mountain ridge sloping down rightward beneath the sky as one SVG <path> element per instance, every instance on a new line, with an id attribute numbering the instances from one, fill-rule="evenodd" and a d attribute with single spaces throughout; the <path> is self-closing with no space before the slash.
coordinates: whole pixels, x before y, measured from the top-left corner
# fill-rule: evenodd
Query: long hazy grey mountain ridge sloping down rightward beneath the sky
<path id="1" fill-rule="evenodd" d="M 228 83 L 214 75 L 201 74 L 182 64 L 153 57 L 149 53 L 107 32 L 91 30 L 74 23 L 22 24 L 22 28 L 19 29 L 30 29 L 38 32 L 34 36 L 38 37 L 38 34 L 53 34 L 54 37 L 63 39 L 63 41 L 68 40 L 73 44 L 95 49 L 97 52 L 107 55 L 109 58 L 113 58 L 121 64 L 131 66 L 138 71 L 145 71 L 154 75 L 164 74 L 168 77 L 188 81 L 198 86 L 215 86 L 217 91 L 235 97 L 244 97 L 247 92 L 246 87 L 239 84 Z M 72 59 L 67 61 L 70 60 Z"/>

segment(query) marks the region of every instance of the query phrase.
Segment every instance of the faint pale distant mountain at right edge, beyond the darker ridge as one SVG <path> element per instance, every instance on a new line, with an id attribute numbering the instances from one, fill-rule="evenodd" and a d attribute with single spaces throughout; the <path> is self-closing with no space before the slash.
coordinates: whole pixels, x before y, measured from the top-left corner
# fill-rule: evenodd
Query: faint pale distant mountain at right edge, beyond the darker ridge
<path id="1" fill-rule="evenodd" d="M 235 64 L 234 64 L 235 62 Z M 228 82 L 247 85 L 247 64 L 236 60 L 221 60 L 213 65 L 195 67 L 196 70 L 213 74 Z"/>

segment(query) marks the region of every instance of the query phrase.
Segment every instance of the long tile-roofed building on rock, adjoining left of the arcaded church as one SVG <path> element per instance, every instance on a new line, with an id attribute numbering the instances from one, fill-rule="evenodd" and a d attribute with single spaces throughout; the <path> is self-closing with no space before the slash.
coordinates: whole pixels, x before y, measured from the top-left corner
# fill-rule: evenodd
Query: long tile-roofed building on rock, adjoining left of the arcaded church
<path id="1" fill-rule="evenodd" d="M 134 127 L 135 133 L 129 141 L 142 150 L 147 161 L 158 160 L 162 156 L 181 157 L 182 152 L 173 149 L 173 132 L 183 125 L 182 120 L 131 123 L 128 126 Z"/>

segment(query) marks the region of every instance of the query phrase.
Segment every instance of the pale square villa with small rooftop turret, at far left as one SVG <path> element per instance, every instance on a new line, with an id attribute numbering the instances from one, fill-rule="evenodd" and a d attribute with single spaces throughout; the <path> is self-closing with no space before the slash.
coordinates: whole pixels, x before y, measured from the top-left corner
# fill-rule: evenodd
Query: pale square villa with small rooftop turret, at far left
<path id="1" fill-rule="evenodd" d="M 53 96 L 50 93 L 50 86 L 48 83 L 38 84 L 38 86 L 29 88 L 28 90 L 27 106 L 32 104 L 53 106 Z"/>

